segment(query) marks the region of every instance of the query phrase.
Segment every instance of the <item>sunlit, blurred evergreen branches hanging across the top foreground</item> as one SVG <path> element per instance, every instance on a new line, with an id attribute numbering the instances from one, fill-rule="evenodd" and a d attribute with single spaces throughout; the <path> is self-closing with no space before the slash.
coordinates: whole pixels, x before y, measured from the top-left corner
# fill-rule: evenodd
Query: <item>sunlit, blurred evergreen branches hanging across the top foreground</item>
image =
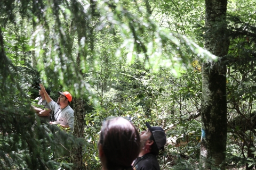
<path id="1" fill-rule="evenodd" d="M 185 36 L 158 27 L 151 16 L 147 15 L 145 8 L 139 7 L 133 13 L 127 10 L 121 1 L 116 3 L 100 1 L 92 5 L 86 1 L 69 3 L 67 1 L 28 2 L 22 0 L 19 3 L 4 1 L 1 5 L 5 6 L 1 10 L 5 22 L 13 23 L 17 28 L 27 27 L 29 23 L 26 22 L 26 18 L 33 22 L 34 33 L 31 35 L 31 40 L 35 41 L 35 55 L 44 80 L 46 81 L 45 75 L 52 72 L 55 75 L 54 82 L 60 80 L 63 88 L 75 86 L 71 92 L 74 90 L 76 95 L 79 94 L 80 89 L 87 89 L 86 91 L 89 89 L 86 83 L 80 81 L 82 77 L 77 73 L 78 69 L 85 71 L 88 69 L 86 58 L 81 58 L 82 67 L 77 68 L 74 64 L 76 56 L 69 50 L 74 48 L 69 41 L 70 38 L 75 37 L 69 37 L 69 35 L 76 30 L 77 22 L 72 21 L 77 19 L 85 27 L 85 38 L 81 40 L 78 50 L 84 51 L 87 58 L 97 60 L 94 56 L 97 55 L 93 48 L 95 44 L 90 45 L 96 42 L 96 39 L 93 39 L 95 33 L 91 30 L 101 31 L 107 29 L 107 25 L 117 29 L 117 35 L 123 39 L 123 43 L 119 44 L 113 55 L 115 54 L 117 59 L 125 58 L 129 64 L 138 60 L 145 64 L 147 69 L 156 71 L 159 66 L 168 66 L 173 69 L 173 73 L 179 74 L 181 68 L 186 69 L 189 63 L 196 58 L 200 60 L 216 58 Z M 8 15 L 9 13 L 11 15 Z M 69 24 L 69 27 L 64 24 Z M 2 27 L 4 27 L 3 24 Z M 44 60 L 51 70 L 46 70 L 41 64 L 44 62 L 42 55 L 45 55 Z M 72 81 L 64 81 L 63 78 L 72 78 Z"/>

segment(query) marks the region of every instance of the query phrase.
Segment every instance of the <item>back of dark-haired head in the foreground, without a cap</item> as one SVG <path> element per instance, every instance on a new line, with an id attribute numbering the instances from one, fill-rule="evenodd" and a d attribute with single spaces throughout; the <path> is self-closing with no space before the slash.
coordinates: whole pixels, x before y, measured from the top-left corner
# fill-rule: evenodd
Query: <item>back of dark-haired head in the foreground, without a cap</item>
<path id="1" fill-rule="evenodd" d="M 140 151 L 140 135 L 123 117 L 103 121 L 98 142 L 102 170 L 132 170 Z"/>

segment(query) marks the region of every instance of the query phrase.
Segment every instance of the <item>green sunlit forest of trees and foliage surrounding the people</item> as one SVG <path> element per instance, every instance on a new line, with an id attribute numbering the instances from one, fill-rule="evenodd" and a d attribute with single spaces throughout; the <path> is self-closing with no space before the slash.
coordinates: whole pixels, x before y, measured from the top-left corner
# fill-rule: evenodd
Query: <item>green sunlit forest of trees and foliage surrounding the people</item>
<path id="1" fill-rule="evenodd" d="M 255 6 L 1 0 L 0 169 L 101 169 L 109 116 L 164 129 L 161 169 L 255 169 Z M 73 132 L 34 116 L 39 83 L 73 96 Z"/>

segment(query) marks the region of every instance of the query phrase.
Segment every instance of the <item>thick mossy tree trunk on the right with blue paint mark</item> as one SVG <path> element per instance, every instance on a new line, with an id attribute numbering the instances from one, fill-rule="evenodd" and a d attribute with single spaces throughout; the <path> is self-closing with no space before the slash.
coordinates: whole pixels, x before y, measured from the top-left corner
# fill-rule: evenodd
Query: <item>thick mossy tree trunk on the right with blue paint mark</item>
<path id="1" fill-rule="evenodd" d="M 227 140 L 226 64 L 227 55 L 226 11 L 227 0 L 205 0 L 205 49 L 217 55 L 217 62 L 202 65 L 202 136 L 201 163 L 204 169 L 225 169 Z"/>

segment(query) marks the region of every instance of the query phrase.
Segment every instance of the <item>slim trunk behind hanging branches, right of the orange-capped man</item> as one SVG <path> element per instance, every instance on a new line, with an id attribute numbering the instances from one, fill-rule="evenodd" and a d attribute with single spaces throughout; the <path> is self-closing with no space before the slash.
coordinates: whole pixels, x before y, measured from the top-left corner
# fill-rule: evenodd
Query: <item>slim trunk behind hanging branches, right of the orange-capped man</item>
<path id="1" fill-rule="evenodd" d="M 79 13 L 79 17 L 75 19 L 76 29 L 77 29 L 77 40 L 78 40 L 78 54 L 77 54 L 77 67 L 78 69 L 81 68 L 81 61 L 82 65 L 86 65 L 87 61 L 87 53 L 89 52 L 89 44 L 90 44 L 90 50 L 91 50 L 91 56 L 93 52 L 93 27 L 89 27 L 89 22 L 87 22 L 88 18 L 91 16 L 94 16 L 96 7 L 96 1 L 90 0 L 90 12 L 88 14 L 91 14 L 91 16 L 85 16 L 83 12 L 84 7 L 81 6 L 80 3 L 77 1 L 71 1 L 71 8 L 73 8 L 74 12 Z M 74 24 L 74 25 L 75 25 Z M 75 28 L 75 27 L 73 27 Z M 71 31 L 74 31 L 71 30 Z M 84 44 L 81 44 L 81 40 L 84 41 Z M 79 73 L 83 75 L 82 70 L 79 70 Z M 92 107 L 89 105 L 89 102 L 87 99 L 83 97 L 75 98 L 75 122 L 74 122 L 74 131 L 73 134 L 75 137 L 78 138 L 84 138 L 84 129 L 85 129 L 85 121 L 84 117 L 85 114 L 90 113 L 92 111 Z M 73 170 L 82 170 L 86 169 L 85 164 L 83 164 L 83 144 L 80 143 L 79 145 L 75 145 L 72 147 L 71 151 L 71 163 L 74 164 Z"/>

